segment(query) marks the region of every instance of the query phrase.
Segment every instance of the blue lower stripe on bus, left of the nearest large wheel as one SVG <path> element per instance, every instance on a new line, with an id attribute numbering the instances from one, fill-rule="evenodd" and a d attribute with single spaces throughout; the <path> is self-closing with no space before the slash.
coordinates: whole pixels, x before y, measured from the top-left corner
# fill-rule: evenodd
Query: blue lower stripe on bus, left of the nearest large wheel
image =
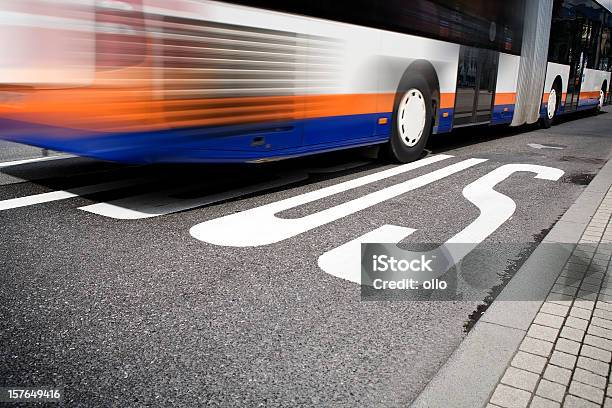
<path id="1" fill-rule="evenodd" d="M 390 114 L 386 115 L 390 118 Z M 351 115 L 294 122 L 168 129 L 114 134 L 79 133 L 47 125 L 0 119 L 0 138 L 79 156 L 126 163 L 246 162 L 322 153 L 386 142 L 385 114 Z M 390 120 L 388 120 L 390 122 Z M 362 136 L 356 123 L 367 123 Z M 333 132 L 336 140 L 330 139 Z M 346 129 L 346 133 L 337 133 Z M 312 132 L 312 133 L 311 133 Z M 306 138 L 306 133 L 308 138 Z M 57 135 L 55 137 L 45 135 Z M 262 138 L 262 139 L 258 139 Z M 303 139 L 304 138 L 304 139 Z M 302 140 L 311 143 L 302 145 Z"/>

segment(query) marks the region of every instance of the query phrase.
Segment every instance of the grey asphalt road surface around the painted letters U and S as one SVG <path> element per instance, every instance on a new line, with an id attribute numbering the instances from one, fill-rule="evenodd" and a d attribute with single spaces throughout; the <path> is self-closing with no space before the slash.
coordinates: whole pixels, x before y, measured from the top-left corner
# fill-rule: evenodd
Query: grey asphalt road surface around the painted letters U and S
<path id="1" fill-rule="evenodd" d="M 0 167 L 0 386 L 63 386 L 67 406 L 406 406 L 603 166 L 612 113 L 548 130 L 464 129 L 430 145 L 431 156 L 453 157 L 278 216 L 487 161 L 257 247 L 213 245 L 190 229 L 395 165 L 350 151 L 258 166 L 64 158 Z M 463 188 L 516 163 L 564 175 L 514 173 L 495 187 L 516 210 L 482 242 L 494 255 L 465 272 L 465 300 L 366 302 L 357 284 L 318 266 L 385 224 L 416 230 L 402 245 L 445 242 L 479 215 Z M 76 196 L 38 196 L 51 191 Z"/>

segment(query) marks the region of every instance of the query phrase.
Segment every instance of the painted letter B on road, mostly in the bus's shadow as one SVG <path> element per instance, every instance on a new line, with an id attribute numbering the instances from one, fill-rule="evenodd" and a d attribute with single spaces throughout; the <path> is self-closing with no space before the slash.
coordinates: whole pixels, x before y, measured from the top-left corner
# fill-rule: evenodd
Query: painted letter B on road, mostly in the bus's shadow
<path id="1" fill-rule="evenodd" d="M 204 205 L 297 183 L 298 181 L 306 180 L 307 178 L 307 173 L 300 172 L 289 174 L 276 180 L 203 197 L 190 199 L 179 199 L 172 197 L 174 194 L 188 191 L 189 188 L 183 187 L 127 197 L 108 203 L 91 204 L 84 207 L 79 207 L 79 210 L 119 220 L 138 220 L 190 210 L 192 208 L 202 207 Z M 193 188 L 193 186 L 190 188 Z"/>

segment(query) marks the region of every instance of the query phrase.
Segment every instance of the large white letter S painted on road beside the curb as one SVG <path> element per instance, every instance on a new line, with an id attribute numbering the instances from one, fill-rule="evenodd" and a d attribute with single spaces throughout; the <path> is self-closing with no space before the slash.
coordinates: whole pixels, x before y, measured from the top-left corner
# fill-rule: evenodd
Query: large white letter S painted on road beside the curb
<path id="1" fill-rule="evenodd" d="M 516 210 L 516 203 L 510 197 L 498 193 L 493 188 L 516 172 L 536 173 L 535 178 L 559 180 L 563 170 L 531 164 L 506 164 L 482 176 L 463 189 L 463 196 L 480 210 L 478 217 L 467 227 L 450 238 L 446 243 L 427 255 L 434 258 L 439 275 L 461 261 L 467 254 L 502 226 Z M 319 266 L 330 275 L 355 283 L 361 283 L 361 244 L 362 243 L 399 243 L 415 230 L 396 225 L 384 225 L 343 244 L 319 257 Z M 448 245 L 462 244 L 462 245 Z M 397 248 L 403 257 L 410 258 L 416 253 Z M 445 264 L 441 264 L 441 263 Z M 436 278 L 430 274 L 428 278 Z"/>

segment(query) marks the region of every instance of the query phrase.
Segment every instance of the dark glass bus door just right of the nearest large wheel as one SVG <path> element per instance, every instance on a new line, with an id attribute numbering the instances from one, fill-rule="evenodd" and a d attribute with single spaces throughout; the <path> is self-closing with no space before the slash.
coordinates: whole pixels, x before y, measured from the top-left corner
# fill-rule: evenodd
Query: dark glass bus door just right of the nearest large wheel
<path id="1" fill-rule="evenodd" d="M 491 121 L 499 53 L 461 46 L 453 127 Z"/>

